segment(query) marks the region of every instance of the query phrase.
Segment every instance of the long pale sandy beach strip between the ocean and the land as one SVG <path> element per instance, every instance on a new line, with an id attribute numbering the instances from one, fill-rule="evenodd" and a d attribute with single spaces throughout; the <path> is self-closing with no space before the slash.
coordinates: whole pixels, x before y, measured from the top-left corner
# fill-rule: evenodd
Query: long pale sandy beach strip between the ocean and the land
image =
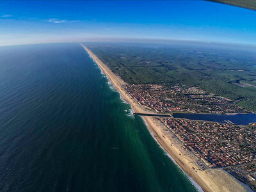
<path id="1" fill-rule="evenodd" d="M 113 74 L 113 72 L 111 72 L 111 70 L 104 63 L 102 63 L 102 61 L 100 61 L 99 58 L 92 53 L 92 51 L 90 51 L 83 44 L 81 45 L 92 57 L 95 63 L 97 63 L 100 69 L 106 74 L 109 81 L 111 81 L 115 89 L 120 92 L 123 99 L 131 104 L 134 112 L 148 113 L 149 111 L 147 111 L 147 109 L 137 104 L 135 100 L 131 99 L 131 97 L 129 97 L 129 95 L 122 90 L 122 85 L 127 83 L 125 83 L 120 77 Z M 198 166 L 193 163 L 195 161 L 189 156 L 186 156 L 186 152 L 180 148 L 180 145 L 176 145 L 169 138 L 163 137 L 164 132 L 162 132 L 163 127 L 161 127 L 161 125 L 157 125 L 151 117 L 145 116 L 144 119 L 158 143 L 164 148 L 164 150 L 166 150 L 166 152 L 168 152 L 168 154 L 170 154 L 170 156 L 173 157 L 173 159 L 175 159 L 180 168 L 182 168 L 182 170 L 184 170 L 189 177 L 192 177 L 193 180 L 195 180 L 195 182 L 199 184 L 204 191 L 246 191 L 244 186 L 242 186 L 239 182 L 237 182 L 236 179 L 234 179 L 234 177 L 223 170 L 199 170 Z M 171 171 L 172 170 L 170 170 L 170 172 Z"/>

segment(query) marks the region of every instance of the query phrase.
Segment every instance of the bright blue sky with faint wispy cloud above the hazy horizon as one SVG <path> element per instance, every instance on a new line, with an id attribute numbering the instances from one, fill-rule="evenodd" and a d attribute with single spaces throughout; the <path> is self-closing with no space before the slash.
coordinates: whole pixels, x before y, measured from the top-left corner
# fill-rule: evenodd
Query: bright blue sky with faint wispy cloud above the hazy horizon
<path id="1" fill-rule="evenodd" d="M 1 1 L 0 45 L 124 38 L 256 45 L 256 12 L 207 1 Z"/>

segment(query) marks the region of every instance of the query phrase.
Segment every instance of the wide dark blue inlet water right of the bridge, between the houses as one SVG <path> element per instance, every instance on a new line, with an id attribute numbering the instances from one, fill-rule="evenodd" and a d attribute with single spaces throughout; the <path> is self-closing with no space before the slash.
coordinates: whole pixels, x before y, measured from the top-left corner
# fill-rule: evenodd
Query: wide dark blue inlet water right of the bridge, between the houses
<path id="1" fill-rule="evenodd" d="M 175 118 L 186 118 L 189 120 L 203 120 L 207 122 L 230 123 L 236 125 L 248 125 L 256 122 L 256 114 L 235 114 L 235 115 L 217 115 L 217 114 L 201 114 L 201 113 L 173 113 Z"/>

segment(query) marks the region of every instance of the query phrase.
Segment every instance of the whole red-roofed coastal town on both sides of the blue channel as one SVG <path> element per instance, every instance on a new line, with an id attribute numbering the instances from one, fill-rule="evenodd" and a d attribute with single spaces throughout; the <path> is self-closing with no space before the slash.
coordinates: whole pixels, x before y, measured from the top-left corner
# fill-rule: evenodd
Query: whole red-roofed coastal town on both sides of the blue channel
<path id="1" fill-rule="evenodd" d="M 125 92 L 141 106 L 157 113 L 248 113 L 230 99 L 196 87 L 170 84 L 125 85 Z M 198 167 L 223 168 L 256 189 L 256 124 L 204 122 L 184 118 L 155 117 L 165 126 L 163 136 L 177 138 L 192 153 Z"/>

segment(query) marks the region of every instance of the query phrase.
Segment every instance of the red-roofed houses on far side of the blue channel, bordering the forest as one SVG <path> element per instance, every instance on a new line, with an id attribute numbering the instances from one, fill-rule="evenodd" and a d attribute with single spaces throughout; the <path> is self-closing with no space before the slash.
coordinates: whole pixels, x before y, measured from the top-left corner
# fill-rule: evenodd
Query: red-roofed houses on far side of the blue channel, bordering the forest
<path id="1" fill-rule="evenodd" d="M 232 100 L 216 97 L 197 87 L 171 84 L 132 84 L 124 90 L 139 104 L 156 112 L 244 113 Z"/>

